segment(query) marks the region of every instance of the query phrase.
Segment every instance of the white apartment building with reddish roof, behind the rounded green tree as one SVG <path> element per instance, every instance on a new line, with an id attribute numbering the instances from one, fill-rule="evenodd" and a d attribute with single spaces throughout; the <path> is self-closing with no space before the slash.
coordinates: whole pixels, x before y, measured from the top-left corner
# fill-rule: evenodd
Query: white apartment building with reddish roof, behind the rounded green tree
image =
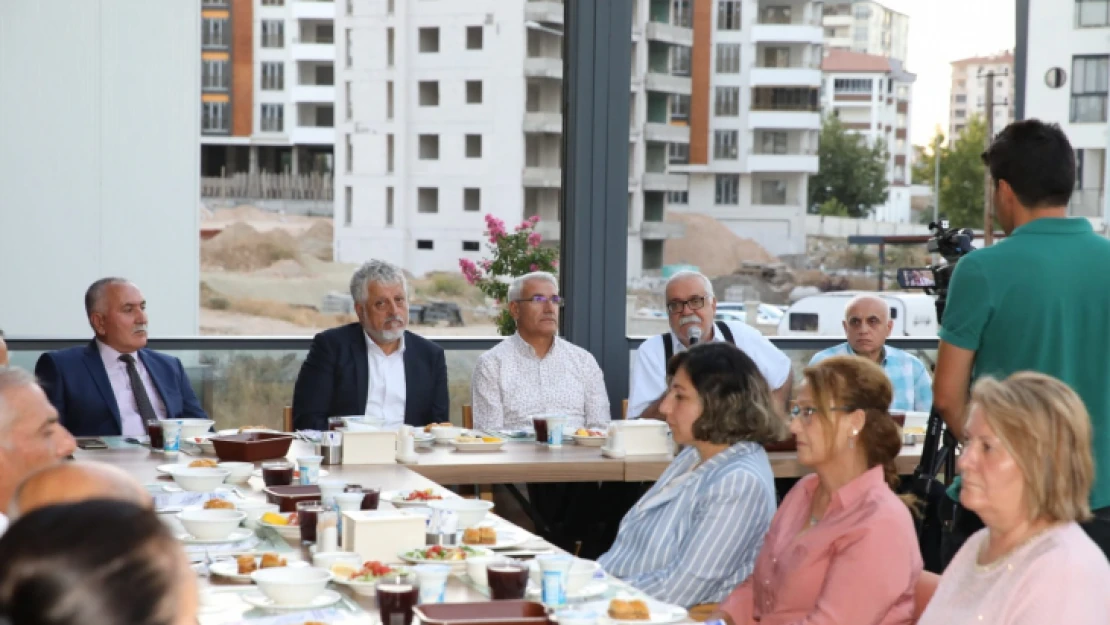
<path id="1" fill-rule="evenodd" d="M 872 145 L 882 141 L 889 154 L 887 202 L 876 206 L 877 221 L 910 221 L 910 100 L 917 77 L 896 59 L 830 50 L 821 63 L 825 89 L 821 108 Z"/>

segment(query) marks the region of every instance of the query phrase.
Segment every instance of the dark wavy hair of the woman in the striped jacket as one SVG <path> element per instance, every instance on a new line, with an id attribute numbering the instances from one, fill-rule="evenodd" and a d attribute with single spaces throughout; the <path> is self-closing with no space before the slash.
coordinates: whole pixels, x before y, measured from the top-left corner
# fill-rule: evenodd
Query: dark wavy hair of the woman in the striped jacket
<path id="1" fill-rule="evenodd" d="M 786 421 L 775 409 L 770 386 L 756 363 L 731 343 L 702 343 L 675 354 L 667 380 L 685 371 L 702 399 L 694 440 L 733 445 L 770 443 L 786 435 Z"/>

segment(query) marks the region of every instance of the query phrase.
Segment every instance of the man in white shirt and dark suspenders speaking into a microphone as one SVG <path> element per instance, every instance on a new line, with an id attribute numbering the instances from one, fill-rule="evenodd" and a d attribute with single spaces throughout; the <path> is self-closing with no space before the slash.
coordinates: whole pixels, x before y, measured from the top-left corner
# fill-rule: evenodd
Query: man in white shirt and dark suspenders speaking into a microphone
<path id="1" fill-rule="evenodd" d="M 659 401 L 667 390 L 667 360 L 695 342 L 733 343 L 764 374 L 776 404 L 786 407 L 794 381 L 790 357 L 746 323 L 714 323 L 717 299 L 713 283 L 696 271 L 679 271 L 665 289 L 670 332 L 652 336 L 636 350 L 628 394 L 628 419 L 662 419 Z"/>

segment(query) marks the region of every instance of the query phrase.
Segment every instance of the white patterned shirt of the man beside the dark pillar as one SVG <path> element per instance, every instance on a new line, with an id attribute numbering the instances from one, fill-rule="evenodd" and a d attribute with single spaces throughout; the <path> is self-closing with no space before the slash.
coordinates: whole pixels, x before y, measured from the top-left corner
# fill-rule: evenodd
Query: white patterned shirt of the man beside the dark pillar
<path id="1" fill-rule="evenodd" d="M 531 429 L 529 416 L 567 415 L 567 425 L 605 426 L 609 397 L 594 354 L 558 336 L 547 355 L 513 334 L 478 356 L 471 382 L 474 426 L 478 430 Z"/>

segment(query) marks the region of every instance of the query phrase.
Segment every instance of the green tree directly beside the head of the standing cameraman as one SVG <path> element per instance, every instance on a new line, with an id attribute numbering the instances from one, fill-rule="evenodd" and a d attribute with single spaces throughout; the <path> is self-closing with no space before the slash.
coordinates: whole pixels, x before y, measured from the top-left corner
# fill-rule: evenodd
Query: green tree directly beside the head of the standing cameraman
<path id="1" fill-rule="evenodd" d="M 975 115 L 951 147 L 946 145 L 945 135 L 938 129 L 929 143 L 930 152 L 914 164 L 914 183 L 932 187 L 935 158 L 940 154 L 939 216 L 953 228 L 982 229 L 983 164 L 980 154 L 986 140 L 987 123 L 981 115 Z"/>

